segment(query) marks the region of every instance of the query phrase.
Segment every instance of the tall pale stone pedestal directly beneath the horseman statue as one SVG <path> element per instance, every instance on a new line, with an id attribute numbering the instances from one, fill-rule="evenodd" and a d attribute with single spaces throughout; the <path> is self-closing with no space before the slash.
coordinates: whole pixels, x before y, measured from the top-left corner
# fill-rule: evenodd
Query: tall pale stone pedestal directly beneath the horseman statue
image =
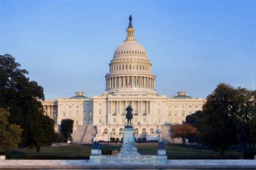
<path id="1" fill-rule="evenodd" d="M 123 130 L 123 146 L 117 155 L 140 155 L 135 146 L 134 129 L 132 126 L 125 126 Z"/>

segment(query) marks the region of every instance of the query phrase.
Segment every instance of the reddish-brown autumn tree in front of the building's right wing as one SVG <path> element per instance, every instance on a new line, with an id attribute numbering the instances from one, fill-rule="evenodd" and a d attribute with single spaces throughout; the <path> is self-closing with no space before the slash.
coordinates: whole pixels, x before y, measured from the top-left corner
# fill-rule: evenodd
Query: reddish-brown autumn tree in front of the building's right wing
<path id="1" fill-rule="evenodd" d="M 190 124 L 171 125 L 171 138 L 182 138 L 192 140 L 198 136 L 197 128 Z"/>

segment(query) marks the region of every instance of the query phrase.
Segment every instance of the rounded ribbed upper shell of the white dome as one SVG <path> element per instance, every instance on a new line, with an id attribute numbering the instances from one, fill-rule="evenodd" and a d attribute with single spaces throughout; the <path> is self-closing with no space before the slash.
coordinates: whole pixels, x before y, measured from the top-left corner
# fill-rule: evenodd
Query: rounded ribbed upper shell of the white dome
<path id="1" fill-rule="evenodd" d="M 140 45 L 136 40 L 133 41 L 125 41 L 119 47 L 117 47 L 116 51 L 114 51 L 114 57 L 119 56 L 145 56 L 147 57 L 147 52 L 145 48 Z"/>

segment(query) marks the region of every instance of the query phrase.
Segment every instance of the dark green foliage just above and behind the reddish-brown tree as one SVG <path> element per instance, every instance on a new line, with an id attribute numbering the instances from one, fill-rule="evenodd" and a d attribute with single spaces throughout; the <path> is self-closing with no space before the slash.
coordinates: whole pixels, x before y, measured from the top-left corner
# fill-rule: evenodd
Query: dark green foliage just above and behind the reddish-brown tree
<path id="1" fill-rule="evenodd" d="M 185 124 L 190 124 L 195 128 L 197 128 L 198 131 L 200 131 L 203 128 L 202 126 L 204 122 L 204 117 L 205 117 L 204 112 L 201 110 L 198 110 L 194 112 L 194 114 L 186 116 Z"/>

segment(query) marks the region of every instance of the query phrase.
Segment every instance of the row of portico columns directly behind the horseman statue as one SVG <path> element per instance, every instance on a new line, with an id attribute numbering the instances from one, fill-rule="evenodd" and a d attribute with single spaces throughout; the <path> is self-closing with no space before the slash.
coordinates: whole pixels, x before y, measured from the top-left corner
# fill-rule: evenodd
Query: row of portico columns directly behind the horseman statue
<path id="1" fill-rule="evenodd" d="M 143 102 L 145 102 L 145 111 L 143 109 Z M 124 108 L 122 108 L 124 103 Z M 116 105 L 115 105 L 116 104 Z M 150 114 L 150 101 L 108 101 L 107 102 L 107 114 L 108 115 L 121 115 L 126 114 L 125 109 L 128 105 L 133 108 L 133 115 L 147 115 Z M 123 112 L 124 109 L 124 112 Z M 136 111 L 137 109 L 137 111 Z"/>

